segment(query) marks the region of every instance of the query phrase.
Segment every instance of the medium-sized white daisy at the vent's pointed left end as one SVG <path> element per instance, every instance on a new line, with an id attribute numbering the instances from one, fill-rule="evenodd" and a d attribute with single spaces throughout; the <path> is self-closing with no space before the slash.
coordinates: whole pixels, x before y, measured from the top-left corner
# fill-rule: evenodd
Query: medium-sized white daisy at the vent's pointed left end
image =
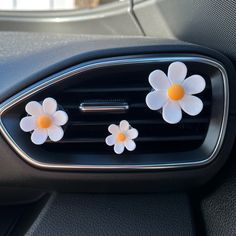
<path id="1" fill-rule="evenodd" d="M 46 98 L 42 104 L 29 102 L 25 110 L 29 116 L 21 119 L 20 127 L 25 132 L 32 132 L 31 141 L 34 144 L 41 145 L 48 137 L 54 142 L 62 139 L 64 131 L 61 126 L 68 121 L 68 115 L 57 110 L 55 99 Z"/>

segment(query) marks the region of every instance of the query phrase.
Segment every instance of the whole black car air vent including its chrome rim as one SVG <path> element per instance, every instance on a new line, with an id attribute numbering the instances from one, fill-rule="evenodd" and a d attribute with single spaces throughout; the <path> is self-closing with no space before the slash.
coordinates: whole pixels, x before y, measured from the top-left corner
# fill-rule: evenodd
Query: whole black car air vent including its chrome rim
<path id="1" fill-rule="evenodd" d="M 188 76 L 200 74 L 206 89 L 197 95 L 204 108 L 197 116 L 183 113 L 168 124 L 150 110 L 145 97 L 152 90 L 148 75 L 167 71 L 173 61 L 188 67 Z M 128 57 L 93 61 L 45 79 L 11 100 L 2 111 L 2 130 L 21 156 L 40 167 L 80 169 L 143 169 L 184 167 L 214 158 L 226 116 L 227 78 L 223 67 L 197 56 Z M 33 145 L 19 129 L 27 102 L 53 97 L 68 113 L 65 135 L 59 142 Z M 96 108 L 96 109 L 94 109 Z M 108 109 L 109 108 L 109 109 Z M 110 109 L 116 108 L 116 109 Z M 139 131 L 137 148 L 118 156 L 105 144 L 108 126 L 128 120 Z"/>

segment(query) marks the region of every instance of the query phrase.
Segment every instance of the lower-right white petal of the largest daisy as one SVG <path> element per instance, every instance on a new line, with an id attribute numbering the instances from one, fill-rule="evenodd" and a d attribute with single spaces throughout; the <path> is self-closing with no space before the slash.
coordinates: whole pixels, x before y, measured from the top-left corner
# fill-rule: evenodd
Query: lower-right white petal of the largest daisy
<path id="1" fill-rule="evenodd" d="M 185 95 L 179 103 L 181 108 L 190 116 L 198 115 L 203 108 L 202 100 L 196 96 Z"/>

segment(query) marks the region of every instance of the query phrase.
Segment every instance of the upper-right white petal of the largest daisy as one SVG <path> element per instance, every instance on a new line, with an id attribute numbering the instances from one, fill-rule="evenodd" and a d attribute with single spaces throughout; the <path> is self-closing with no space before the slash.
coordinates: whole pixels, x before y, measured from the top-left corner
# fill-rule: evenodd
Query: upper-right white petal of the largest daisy
<path id="1" fill-rule="evenodd" d="M 183 87 L 187 94 L 197 94 L 205 89 L 206 82 L 202 76 L 192 75 L 184 80 Z"/>

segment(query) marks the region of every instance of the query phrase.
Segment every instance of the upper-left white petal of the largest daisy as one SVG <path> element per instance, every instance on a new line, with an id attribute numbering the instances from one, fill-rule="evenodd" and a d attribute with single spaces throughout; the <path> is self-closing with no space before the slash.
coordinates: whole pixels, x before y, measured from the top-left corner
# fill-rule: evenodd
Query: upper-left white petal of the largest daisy
<path id="1" fill-rule="evenodd" d="M 166 74 L 161 70 L 154 70 L 149 75 L 148 80 L 155 90 L 167 90 L 170 87 Z"/>

